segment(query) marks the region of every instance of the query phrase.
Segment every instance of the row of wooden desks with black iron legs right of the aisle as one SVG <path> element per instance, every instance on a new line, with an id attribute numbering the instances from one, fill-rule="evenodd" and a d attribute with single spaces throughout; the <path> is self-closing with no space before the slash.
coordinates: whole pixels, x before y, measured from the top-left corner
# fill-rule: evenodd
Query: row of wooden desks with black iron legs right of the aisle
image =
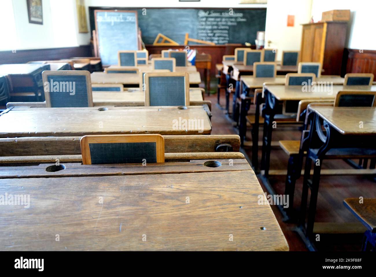
<path id="1" fill-rule="evenodd" d="M 320 78 L 316 79 L 316 82 L 319 84 L 316 88 L 312 87 L 313 89 L 311 90 L 310 87 L 309 90 L 303 90 L 301 86 L 285 86 L 285 76 L 282 75 L 277 75 L 276 78 L 254 78 L 253 76 L 249 76 L 253 73 L 253 66 L 244 66 L 243 64 L 236 64 L 232 61 L 224 61 L 222 70 L 224 74 L 228 75 L 230 74 L 230 71 L 232 71 L 230 78 L 239 82 L 240 93 L 244 93 L 243 95 L 240 95 L 241 111 L 239 133 L 241 136 L 241 145 L 244 145 L 243 140 L 247 129 L 246 115 L 252 104 L 255 104 L 256 106 L 256 114 L 254 116 L 256 122 L 252 127 L 252 166 L 256 170 L 258 169 L 258 119 L 261 116 L 261 110 L 258 107 L 265 101 L 264 106 L 262 107 L 264 127 L 262 135 L 261 180 L 272 195 L 277 193 L 270 185 L 268 178 L 272 133 L 275 128 L 273 125 L 275 125 L 276 122 L 275 116 L 280 113 L 279 104 L 288 101 L 298 102 L 304 99 L 327 99 L 328 101 L 334 101 L 337 93 L 343 90 L 376 91 L 376 86 L 344 86 L 344 78 L 325 75 L 321 75 Z M 297 72 L 297 67 L 277 66 L 277 74 L 285 75 L 290 72 Z M 262 98 L 264 98 L 264 101 L 258 103 L 257 97 L 248 97 L 248 93 L 251 90 L 261 88 L 263 89 Z M 236 98 L 237 96 L 234 96 L 234 105 L 236 104 Z M 233 111 L 234 110 L 235 106 Z M 344 158 L 361 158 L 363 156 L 376 157 L 376 150 L 374 150 L 374 144 L 372 143 L 372 141 L 374 142 L 376 139 L 376 109 L 374 107 L 333 107 L 312 105 L 309 107 L 307 114 L 308 118 L 306 119 L 305 126 L 310 126 L 309 136 L 304 139 L 304 151 L 300 151 L 302 151 L 302 153 L 308 153 L 308 158 L 305 160 L 305 165 L 300 165 L 300 167 L 299 165 L 291 164 L 294 166 L 294 169 L 290 168 L 290 171 L 288 169 L 288 174 L 293 175 L 287 176 L 285 194 L 290 195 L 289 206 L 291 206 L 291 211 L 291 209 L 293 209 L 295 182 L 288 180 L 299 178 L 300 170 L 303 166 L 305 174 L 303 178 L 302 202 L 299 211 L 299 228 L 297 228 L 297 231 L 308 248 L 314 250 L 315 246 L 312 241 L 314 240 L 315 210 L 323 160 L 328 157 L 329 159 L 333 159 L 337 156 Z M 294 117 L 296 117 L 296 115 L 294 115 Z M 324 129 L 326 131 L 324 132 L 324 138 L 317 135 L 322 128 L 322 122 L 324 122 Z M 321 146 L 317 149 L 317 145 Z M 300 145 L 300 147 L 302 147 L 302 145 Z M 345 152 L 347 153 L 347 156 L 344 155 Z M 317 160 L 320 162 L 317 163 Z M 303 162 L 303 158 L 300 158 L 300 156 L 299 161 Z M 314 163 L 314 170 L 313 178 L 311 179 L 310 172 L 312 162 Z M 295 163 L 298 163 L 298 161 L 295 161 Z M 289 167 L 291 165 L 289 162 Z M 311 190 L 311 194 L 308 194 L 309 190 Z M 310 197 L 309 201 L 308 196 Z M 307 208 L 308 203 L 309 205 Z M 283 214 L 286 216 L 285 211 L 283 211 Z M 368 225 L 366 226 L 369 228 Z"/>

